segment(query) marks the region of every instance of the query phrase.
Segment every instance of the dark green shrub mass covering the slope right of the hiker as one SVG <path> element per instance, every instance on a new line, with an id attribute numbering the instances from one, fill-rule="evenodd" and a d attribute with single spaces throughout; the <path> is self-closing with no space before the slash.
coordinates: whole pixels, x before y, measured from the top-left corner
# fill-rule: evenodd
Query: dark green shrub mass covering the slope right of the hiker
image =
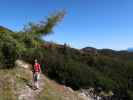
<path id="1" fill-rule="evenodd" d="M 117 100 L 129 98 L 127 91 L 132 91 L 133 62 L 128 59 L 83 54 L 66 46 L 40 48 L 37 52 L 44 74 L 61 84 L 73 89 L 100 87 L 103 91 L 113 91 Z"/>

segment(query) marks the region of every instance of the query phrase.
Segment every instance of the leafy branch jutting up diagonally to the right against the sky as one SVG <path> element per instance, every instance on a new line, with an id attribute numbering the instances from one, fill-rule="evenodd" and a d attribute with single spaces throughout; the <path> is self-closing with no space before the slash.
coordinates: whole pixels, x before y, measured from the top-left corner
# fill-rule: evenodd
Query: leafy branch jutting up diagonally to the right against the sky
<path id="1" fill-rule="evenodd" d="M 36 36 L 48 35 L 53 32 L 53 27 L 63 19 L 64 15 L 65 11 L 60 11 L 49 16 L 47 18 L 47 21 L 40 21 L 39 23 L 29 23 L 25 26 L 24 32 Z"/>

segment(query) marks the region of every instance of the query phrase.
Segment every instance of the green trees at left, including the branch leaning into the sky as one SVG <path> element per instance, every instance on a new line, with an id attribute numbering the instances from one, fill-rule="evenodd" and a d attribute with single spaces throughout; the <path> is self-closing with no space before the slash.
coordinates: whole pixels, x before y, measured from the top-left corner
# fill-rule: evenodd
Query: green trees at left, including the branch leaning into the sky
<path id="1" fill-rule="evenodd" d="M 7 28 L 0 27 L 0 65 L 13 67 L 14 61 L 18 58 L 32 58 L 41 56 L 36 52 L 43 43 L 42 35 L 52 32 L 53 27 L 61 21 L 65 12 L 60 11 L 36 24 L 29 24 L 22 32 L 13 32 Z M 36 49 L 36 50 L 35 50 Z M 31 55 L 29 55 L 29 54 Z M 35 58 L 34 57 L 34 58 Z"/>

